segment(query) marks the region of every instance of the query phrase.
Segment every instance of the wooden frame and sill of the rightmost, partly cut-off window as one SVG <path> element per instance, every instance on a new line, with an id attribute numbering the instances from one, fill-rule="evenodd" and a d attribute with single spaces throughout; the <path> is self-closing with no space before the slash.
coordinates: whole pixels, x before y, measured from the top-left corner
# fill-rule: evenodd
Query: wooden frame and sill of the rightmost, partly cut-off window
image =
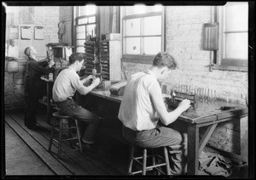
<path id="1" fill-rule="evenodd" d="M 243 2 L 241 2 L 243 3 Z M 224 16 L 224 11 L 225 8 L 224 6 L 219 6 L 219 7 L 214 7 L 213 9 L 213 20 L 214 22 L 219 23 L 219 41 L 218 41 L 218 50 L 214 52 L 215 56 L 215 62 L 212 66 L 213 70 L 233 70 L 233 71 L 248 71 L 248 57 L 246 59 L 225 59 L 224 58 L 224 53 L 225 53 L 225 39 L 224 39 L 224 33 L 236 33 L 236 32 L 241 32 L 241 31 L 224 31 L 224 23 L 225 23 L 225 16 Z M 242 32 L 247 32 L 247 31 L 242 31 Z M 248 54 L 249 56 L 249 54 Z"/>

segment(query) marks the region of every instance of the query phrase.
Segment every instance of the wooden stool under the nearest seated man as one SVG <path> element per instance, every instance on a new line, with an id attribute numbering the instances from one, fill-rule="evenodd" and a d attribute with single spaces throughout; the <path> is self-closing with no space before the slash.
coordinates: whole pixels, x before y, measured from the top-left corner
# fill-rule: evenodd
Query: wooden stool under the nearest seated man
<path id="1" fill-rule="evenodd" d="M 134 175 L 134 174 L 138 174 L 138 173 L 142 173 L 142 175 L 146 175 L 147 171 L 153 171 L 153 170 L 156 170 L 158 175 L 160 175 L 160 174 L 170 175 L 171 174 L 169 156 L 168 156 L 166 147 L 158 148 L 158 149 L 163 149 L 165 158 L 163 158 L 161 155 L 154 153 L 154 149 L 149 149 L 149 148 L 148 149 L 143 148 L 142 156 L 135 156 L 136 149 L 137 149 L 136 145 L 131 145 L 130 160 L 129 160 L 130 164 L 129 164 L 128 175 Z M 151 150 L 151 155 L 147 155 L 148 150 Z M 147 166 L 148 158 L 152 158 L 150 160 L 152 162 L 151 166 Z M 165 160 L 165 162 L 161 162 L 161 163 L 157 164 L 156 160 L 162 160 L 162 161 Z M 135 163 L 133 163 L 133 162 L 137 162 L 137 165 L 142 166 L 143 169 L 139 170 L 139 171 L 132 172 L 132 167 L 133 167 L 133 165 L 135 165 Z M 160 166 L 166 166 L 166 173 L 163 172 L 162 170 L 160 170 Z"/>

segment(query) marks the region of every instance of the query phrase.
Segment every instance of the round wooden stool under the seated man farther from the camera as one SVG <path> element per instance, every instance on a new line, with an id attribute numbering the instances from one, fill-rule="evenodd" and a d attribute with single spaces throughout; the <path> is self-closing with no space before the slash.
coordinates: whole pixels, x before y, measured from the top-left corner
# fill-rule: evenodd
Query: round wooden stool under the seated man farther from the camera
<path id="1" fill-rule="evenodd" d="M 61 157 L 61 151 L 62 151 L 61 150 L 62 141 L 69 141 L 70 142 L 72 140 L 78 140 L 79 148 L 68 150 L 68 151 L 80 150 L 80 152 L 82 153 L 82 145 L 81 145 L 81 141 L 80 141 L 80 132 L 79 132 L 78 120 L 73 119 L 72 117 L 70 117 L 68 115 L 60 115 L 59 112 L 54 112 L 52 115 L 54 116 L 54 123 L 53 123 L 52 130 L 51 130 L 51 137 L 49 139 L 48 151 L 50 151 L 50 149 L 51 149 L 52 142 L 55 141 L 55 143 L 58 147 L 57 157 L 60 158 Z M 59 120 L 59 125 L 57 123 L 57 120 Z M 68 125 L 68 121 L 72 121 L 72 120 L 75 121 L 75 126 Z M 64 132 L 63 131 L 64 130 L 64 128 L 63 128 L 64 125 L 67 125 L 67 127 L 65 127 L 65 129 L 67 130 L 67 132 L 69 134 L 68 138 L 62 138 L 63 135 L 66 134 L 66 133 L 63 133 Z M 76 137 L 75 138 L 70 138 L 70 132 L 69 132 L 70 129 L 76 129 Z M 58 133 L 58 135 L 59 135 L 58 139 L 54 138 L 55 132 L 59 132 Z"/>

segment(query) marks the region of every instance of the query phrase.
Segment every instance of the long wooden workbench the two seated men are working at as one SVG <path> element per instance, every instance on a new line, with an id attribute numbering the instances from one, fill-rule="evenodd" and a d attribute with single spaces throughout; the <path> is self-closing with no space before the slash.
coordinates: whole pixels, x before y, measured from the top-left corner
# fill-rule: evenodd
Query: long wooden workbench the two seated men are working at
<path id="1" fill-rule="evenodd" d="M 122 101 L 122 96 L 113 95 L 109 90 L 94 89 L 90 92 L 90 95 L 117 103 Z M 235 109 L 225 111 L 217 110 L 221 106 L 233 106 Z M 217 101 L 216 104 L 199 102 L 198 109 L 183 112 L 183 114 L 178 117 L 179 121 L 184 121 L 188 124 L 188 175 L 198 174 L 199 156 L 218 123 L 230 120 L 240 120 L 242 117 L 247 116 L 247 114 L 248 110 L 246 105 Z M 203 134 L 200 140 L 199 129 L 201 127 L 207 127 L 207 131 Z"/>

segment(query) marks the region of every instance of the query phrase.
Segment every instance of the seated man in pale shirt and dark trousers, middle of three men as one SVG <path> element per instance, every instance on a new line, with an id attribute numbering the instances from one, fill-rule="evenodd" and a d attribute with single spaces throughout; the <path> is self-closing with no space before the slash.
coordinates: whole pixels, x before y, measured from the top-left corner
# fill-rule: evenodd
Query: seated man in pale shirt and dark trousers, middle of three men
<path id="1" fill-rule="evenodd" d="M 73 53 L 69 57 L 70 65 L 65 70 L 61 70 L 60 74 L 56 77 L 55 83 L 52 89 L 53 100 L 61 115 L 69 115 L 78 120 L 81 120 L 82 126 L 87 125 L 84 130 L 81 142 L 83 149 L 96 151 L 94 146 L 94 138 L 96 131 L 99 127 L 99 117 L 89 110 L 85 110 L 73 100 L 73 95 L 76 91 L 85 95 L 89 93 L 93 88 L 99 85 L 100 79 L 95 78 L 91 82 L 90 86 L 85 87 L 84 83 L 89 81 L 92 76 L 80 80 L 78 71 L 81 70 L 84 65 L 84 57 L 82 53 Z M 81 123 L 79 123 L 81 124 Z M 83 132 L 81 131 L 83 134 Z"/>

